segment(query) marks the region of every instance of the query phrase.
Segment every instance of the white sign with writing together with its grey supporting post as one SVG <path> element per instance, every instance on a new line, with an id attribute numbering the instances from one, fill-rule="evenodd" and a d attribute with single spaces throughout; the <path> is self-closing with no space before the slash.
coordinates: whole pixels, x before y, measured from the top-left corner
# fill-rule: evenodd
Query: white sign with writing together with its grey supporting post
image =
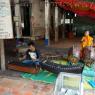
<path id="1" fill-rule="evenodd" d="M 5 52 L 4 52 L 3 39 L 13 38 L 10 0 L 0 0 L 0 8 L 1 7 L 2 10 L 0 10 L 0 59 L 1 59 L 0 61 L 1 61 L 1 70 L 5 71 L 6 66 L 5 66 Z"/>

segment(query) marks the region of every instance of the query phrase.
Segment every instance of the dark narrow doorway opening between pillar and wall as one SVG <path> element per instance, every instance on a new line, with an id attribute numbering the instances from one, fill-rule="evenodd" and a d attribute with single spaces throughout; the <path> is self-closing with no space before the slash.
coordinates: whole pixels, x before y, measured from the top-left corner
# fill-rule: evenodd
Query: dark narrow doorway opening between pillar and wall
<path id="1" fill-rule="evenodd" d="M 24 6 L 21 6 L 22 37 L 31 36 L 30 29 L 31 9 L 32 8 L 29 2 L 25 3 Z"/>

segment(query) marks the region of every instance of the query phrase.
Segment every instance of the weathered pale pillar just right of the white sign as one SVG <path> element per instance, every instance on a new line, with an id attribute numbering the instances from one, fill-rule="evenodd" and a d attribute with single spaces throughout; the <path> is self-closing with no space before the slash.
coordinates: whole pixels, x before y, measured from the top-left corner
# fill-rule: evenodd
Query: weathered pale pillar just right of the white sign
<path id="1" fill-rule="evenodd" d="M 20 12 L 20 3 L 19 0 L 14 0 L 15 3 L 15 17 L 17 18 L 17 21 L 15 21 L 15 27 L 16 27 L 16 37 L 21 37 L 21 12 Z"/>

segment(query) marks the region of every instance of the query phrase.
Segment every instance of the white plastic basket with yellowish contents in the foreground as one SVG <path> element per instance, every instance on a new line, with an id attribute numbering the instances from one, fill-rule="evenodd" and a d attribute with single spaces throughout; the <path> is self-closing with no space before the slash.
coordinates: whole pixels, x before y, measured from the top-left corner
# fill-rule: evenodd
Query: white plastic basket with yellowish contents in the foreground
<path id="1" fill-rule="evenodd" d="M 80 74 L 64 72 L 59 74 L 55 84 L 54 95 L 82 95 L 82 92 L 82 77 Z"/>

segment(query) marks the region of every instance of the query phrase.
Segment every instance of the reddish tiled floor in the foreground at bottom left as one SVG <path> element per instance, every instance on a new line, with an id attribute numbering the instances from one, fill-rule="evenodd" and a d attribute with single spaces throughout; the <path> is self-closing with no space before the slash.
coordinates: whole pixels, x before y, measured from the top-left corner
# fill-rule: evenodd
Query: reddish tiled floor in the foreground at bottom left
<path id="1" fill-rule="evenodd" d="M 53 95 L 53 88 L 51 84 L 0 76 L 0 95 Z"/>

